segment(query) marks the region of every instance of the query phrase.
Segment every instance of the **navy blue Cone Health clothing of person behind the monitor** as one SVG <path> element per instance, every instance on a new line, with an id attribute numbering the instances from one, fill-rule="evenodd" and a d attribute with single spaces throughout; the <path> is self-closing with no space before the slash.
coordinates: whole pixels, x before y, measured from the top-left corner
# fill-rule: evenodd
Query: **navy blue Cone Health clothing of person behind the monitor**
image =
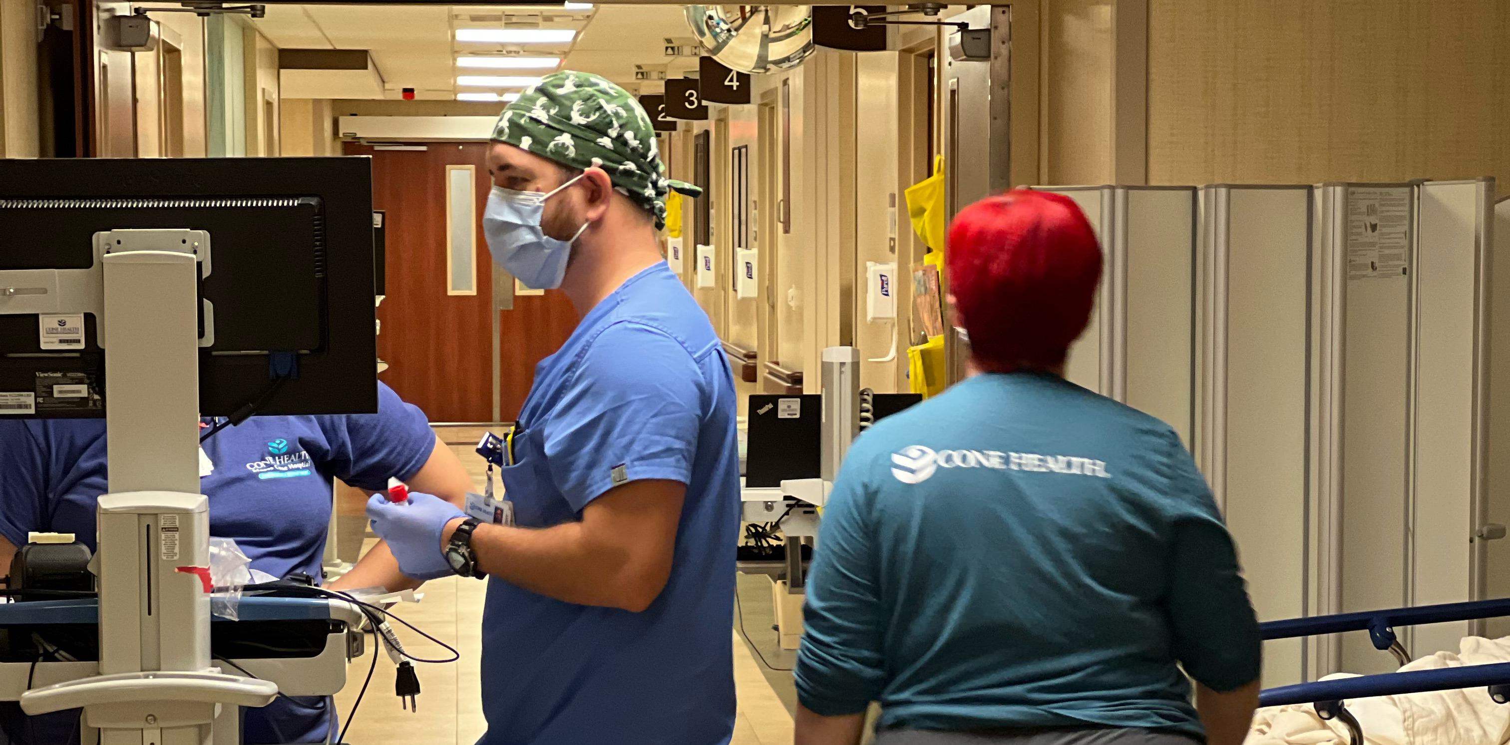
<path id="1" fill-rule="evenodd" d="M 252 417 L 204 450 L 214 462 L 199 479 L 210 535 L 234 538 L 252 568 L 319 582 L 331 479 L 379 491 L 390 478 L 412 478 L 435 450 L 435 432 L 423 411 L 379 384 L 378 414 Z M 103 419 L 0 419 L 0 536 L 12 544 L 33 530 L 62 532 L 94 550 L 95 499 L 109 491 L 107 479 Z M 325 698 L 279 697 L 245 712 L 243 742 L 325 742 L 331 719 Z M 0 704 L 0 733 L 17 745 L 68 742 L 77 721 L 71 712 L 26 718 L 14 703 Z"/>

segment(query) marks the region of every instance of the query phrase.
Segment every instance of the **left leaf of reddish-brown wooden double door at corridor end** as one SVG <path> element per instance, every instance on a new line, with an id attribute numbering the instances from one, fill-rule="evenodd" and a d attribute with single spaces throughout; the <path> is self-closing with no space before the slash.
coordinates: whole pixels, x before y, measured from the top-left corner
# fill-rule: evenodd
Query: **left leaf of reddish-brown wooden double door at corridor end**
<path id="1" fill-rule="evenodd" d="M 378 308 L 381 379 L 430 422 L 492 420 L 492 258 L 482 234 L 491 183 L 483 142 L 411 150 L 346 144 L 373 159 L 373 209 L 387 212 L 387 299 Z M 447 263 L 448 168 L 476 166 L 473 295 L 455 293 Z"/>

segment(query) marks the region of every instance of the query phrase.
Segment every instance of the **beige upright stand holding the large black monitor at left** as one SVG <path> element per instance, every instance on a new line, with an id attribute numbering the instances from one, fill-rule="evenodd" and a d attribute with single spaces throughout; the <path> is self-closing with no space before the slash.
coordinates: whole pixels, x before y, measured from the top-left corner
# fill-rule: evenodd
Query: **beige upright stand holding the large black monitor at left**
<path id="1" fill-rule="evenodd" d="M 100 674 L 27 691 L 21 709 L 82 707 L 101 745 L 237 745 L 239 707 L 267 706 L 278 694 L 272 682 L 222 674 L 210 660 L 195 236 L 204 233 L 95 236 L 110 464 L 91 564 L 100 577 Z"/>

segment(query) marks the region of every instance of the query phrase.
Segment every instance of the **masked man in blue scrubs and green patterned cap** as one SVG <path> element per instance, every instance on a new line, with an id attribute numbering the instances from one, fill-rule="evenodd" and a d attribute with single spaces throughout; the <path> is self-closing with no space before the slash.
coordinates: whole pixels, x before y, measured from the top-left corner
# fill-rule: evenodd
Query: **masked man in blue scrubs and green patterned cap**
<path id="1" fill-rule="evenodd" d="M 501 476 L 518 526 L 464 523 L 411 494 L 373 497 L 373 529 L 409 576 L 448 574 L 442 546 L 492 576 L 482 745 L 726 743 L 734 381 L 657 240 L 667 187 L 696 189 L 661 177 L 634 98 L 571 71 L 504 109 L 488 169 L 494 257 L 581 316 L 536 367 L 510 438 Z"/>

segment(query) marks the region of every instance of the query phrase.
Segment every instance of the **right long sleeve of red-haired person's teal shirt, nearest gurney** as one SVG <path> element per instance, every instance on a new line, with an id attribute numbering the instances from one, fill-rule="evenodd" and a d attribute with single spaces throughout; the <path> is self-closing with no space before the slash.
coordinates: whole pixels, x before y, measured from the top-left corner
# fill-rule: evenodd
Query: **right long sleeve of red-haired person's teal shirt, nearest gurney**
<path id="1" fill-rule="evenodd" d="M 1261 672 L 1258 617 L 1211 490 L 1178 438 L 1172 444 L 1172 487 L 1185 508 L 1173 518 L 1167 562 L 1175 656 L 1200 685 L 1237 691 Z"/>

